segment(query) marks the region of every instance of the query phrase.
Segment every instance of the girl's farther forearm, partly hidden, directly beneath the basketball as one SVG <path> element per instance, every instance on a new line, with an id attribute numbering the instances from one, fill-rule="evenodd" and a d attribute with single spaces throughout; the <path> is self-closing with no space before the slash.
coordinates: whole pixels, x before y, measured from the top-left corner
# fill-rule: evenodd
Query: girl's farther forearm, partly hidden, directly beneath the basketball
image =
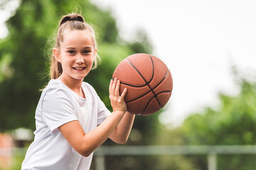
<path id="1" fill-rule="evenodd" d="M 117 143 L 125 143 L 132 130 L 135 115 L 132 113 L 125 113 L 117 128 L 110 135 L 110 139 Z"/>

